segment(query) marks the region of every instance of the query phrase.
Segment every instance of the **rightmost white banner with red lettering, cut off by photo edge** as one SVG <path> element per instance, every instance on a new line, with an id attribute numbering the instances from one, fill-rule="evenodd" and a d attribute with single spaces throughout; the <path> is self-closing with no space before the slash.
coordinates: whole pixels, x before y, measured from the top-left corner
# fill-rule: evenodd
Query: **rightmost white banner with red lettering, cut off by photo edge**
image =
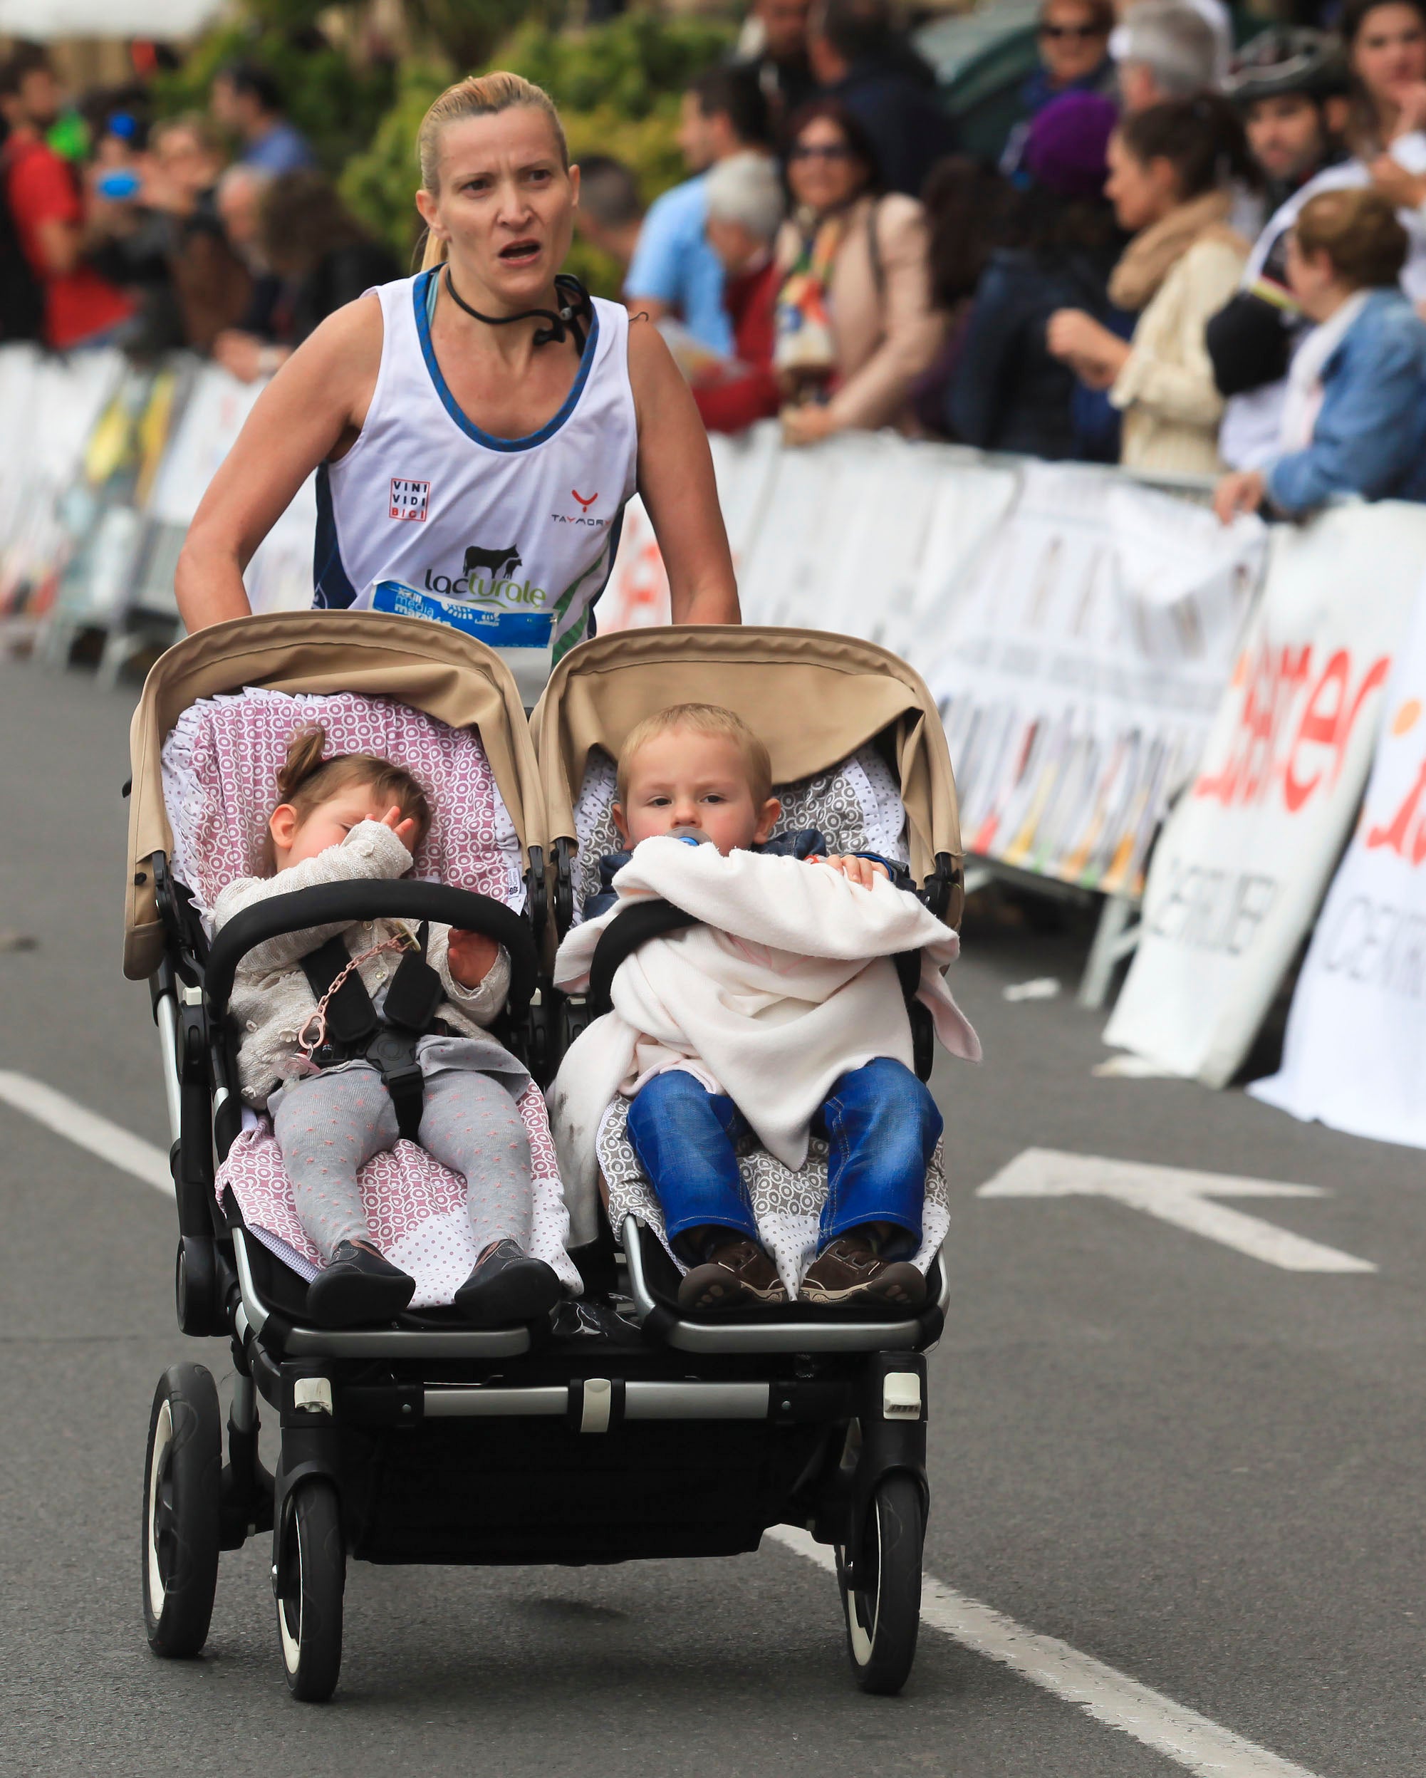
<path id="1" fill-rule="evenodd" d="M 1387 681 L 1362 818 L 1293 994 L 1282 1070 L 1248 1092 L 1426 1149 L 1426 585 Z"/>

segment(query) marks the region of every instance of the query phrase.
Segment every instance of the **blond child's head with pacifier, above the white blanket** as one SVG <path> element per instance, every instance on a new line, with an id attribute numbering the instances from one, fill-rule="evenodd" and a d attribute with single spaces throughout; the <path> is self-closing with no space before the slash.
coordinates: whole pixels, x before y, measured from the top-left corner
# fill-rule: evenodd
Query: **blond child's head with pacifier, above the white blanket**
<path id="1" fill-rule="evenodd" d="M 782 813 L 775 797 L 752 800 L 743 750 L 729 734 L 669 729 L 638 749 L 628 777 L 628 802 L 613 805 L 613 821 L 629 846 L 697 827 L 727 857 L 761 845 Z"/>

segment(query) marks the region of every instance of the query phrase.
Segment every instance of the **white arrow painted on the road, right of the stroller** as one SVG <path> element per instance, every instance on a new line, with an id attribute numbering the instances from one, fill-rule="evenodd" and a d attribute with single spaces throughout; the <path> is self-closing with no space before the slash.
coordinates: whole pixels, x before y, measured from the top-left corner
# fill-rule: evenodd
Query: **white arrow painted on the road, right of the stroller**
<path id="1" fill-rule="evenodd" d="M 1259 1216 L 1245 1216 L 1216 1198 L 1321 1198 L 1321 1186 L 1284 1186 L 1234 1173 L 1195 1173 L 1147 1161 L 1106 1161 L 1097 1154 L 1026 1149 L 976 1193 L 978 1198 L 1113 1198 L 1159 1221 L 1222 1241 L 1284 1271 L 1376 1271 L 1369 1259 L 1305 1241 Z"/>

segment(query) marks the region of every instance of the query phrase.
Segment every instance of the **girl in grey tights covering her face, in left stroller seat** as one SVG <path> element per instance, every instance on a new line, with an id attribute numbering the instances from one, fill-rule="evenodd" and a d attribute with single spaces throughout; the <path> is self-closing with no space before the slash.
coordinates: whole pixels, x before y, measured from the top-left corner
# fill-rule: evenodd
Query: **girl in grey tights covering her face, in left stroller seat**
<path id="1" fill-rule="evenodd" d="M 276 871 L 229 884 L 213 907 L 215 928 L 270 896 L 397 878 L 411 868 L 430 825 L 420 784 L 386 759 L 327 759 L 324 747 L 322 727 L 299 729 L 288 741 L 277 773 L 281 802 L 268 818 Z M 332 939 L 345 955 L 331 957 L 324 987 L 315 965 Z M 391 1149 L 400 1129 L 382 1074 L 366 1058 L 368 1040 L 343 1044 L 327 1035 L 329 1001 L 352 976 L 381 1019 L 370 1033 L 373 1044 L 402 1028 L 425 1028 L 414 1044 L 423 1077 L 420 1143 L 464 1175 L 480 1250 L 455 1293 L 455 1307 L 485 1326 L 549 1310 L 560 1280 L 551 1266 L 526 1253 L 533 1186 L 516 1095 L 528 1074 L 482 1029 L 505 1005 L 509 957 L 478 932 L 430 926 L 425 935 L 382 919 L 267 939 L 238 965 L 229 997 L 242 1031 L 242 1097 L 272 1115 L 297 1214 L 327 1261 L 308 1291 L 311 1319 L 322 1326 L 382 1321 L 405 1309 L 416 1287 L 409 1273 L 372 1246 L 361 1202 L 359 1168 Z M 388 1001 L 391 1019 L 384 1017 Z M 430 1019 L 436 1001 L 437 1017 Z M 402 1019 L 414 1005 L 425 1017 Z"/>

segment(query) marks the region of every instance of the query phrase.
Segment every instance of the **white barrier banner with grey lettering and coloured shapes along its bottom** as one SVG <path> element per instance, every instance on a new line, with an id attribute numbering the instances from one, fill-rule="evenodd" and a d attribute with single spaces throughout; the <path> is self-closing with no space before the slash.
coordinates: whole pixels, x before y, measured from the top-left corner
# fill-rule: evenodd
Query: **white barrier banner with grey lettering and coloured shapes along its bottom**
<path id="1" fill-rule="evenodd" d="M 1136 894 L 1262 576 L 1266 528 L 1102 469 L 1029 464 L 941 610 L 967 852 Z M 923 644 L 925 647 L 925 644 Z"/>

